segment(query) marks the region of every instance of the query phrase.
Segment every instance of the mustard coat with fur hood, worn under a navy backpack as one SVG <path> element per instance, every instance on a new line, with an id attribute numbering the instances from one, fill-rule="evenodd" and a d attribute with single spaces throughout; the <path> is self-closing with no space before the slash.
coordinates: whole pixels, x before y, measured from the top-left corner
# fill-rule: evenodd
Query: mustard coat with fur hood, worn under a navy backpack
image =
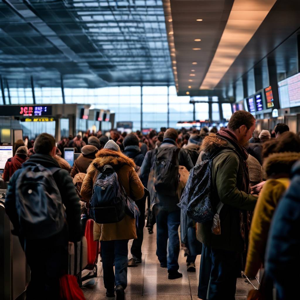
<path id="1" fill-rule="evenodd" d="M 101 149 L 97 152 L 96 158 L 88 167 L 80 190 L 80 195 L 86 202 L 90 201 L 93 185 L 100 173 L 99 170 L 105 165 L 110 165 L 115 169 L 126 193 L 128 193 L 133 200 L 139 200 L 144 196 L 144 187 L 134 170 L 134 161 L 122 152 Z M 129 240 L 132 238 L 137 238 L 135 219 L 132 219 L 128 215 L 125 215 L 125 217 L 117 223 L 94 223 L 95 241 Z"/>

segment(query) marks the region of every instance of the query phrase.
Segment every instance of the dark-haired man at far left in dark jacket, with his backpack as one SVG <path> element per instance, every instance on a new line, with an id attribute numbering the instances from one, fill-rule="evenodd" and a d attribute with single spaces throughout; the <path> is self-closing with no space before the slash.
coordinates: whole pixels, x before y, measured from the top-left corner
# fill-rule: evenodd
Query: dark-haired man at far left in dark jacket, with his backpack
<path id="1" fill-rule="evenodd" d="M 58 299 L 68 241 L 81 238 L 79 198 L 69 173 L 55 160 L 54 138 L 40 134 L 34 151 L 10 179 L 5 211 L 31 270 L 26 299 Z"/>

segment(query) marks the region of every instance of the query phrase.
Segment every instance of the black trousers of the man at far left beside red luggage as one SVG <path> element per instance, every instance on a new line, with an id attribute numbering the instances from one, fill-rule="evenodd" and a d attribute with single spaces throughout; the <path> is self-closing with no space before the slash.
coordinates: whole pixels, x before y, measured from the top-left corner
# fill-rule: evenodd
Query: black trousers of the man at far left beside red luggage
<path id="1" fill-rule="evenodd" d="M 25 255 L 30 266 L 26 299 L 59 299 L 59 278 L 68 270 L 67 226 L 45 239 L 25 239 Z"/>

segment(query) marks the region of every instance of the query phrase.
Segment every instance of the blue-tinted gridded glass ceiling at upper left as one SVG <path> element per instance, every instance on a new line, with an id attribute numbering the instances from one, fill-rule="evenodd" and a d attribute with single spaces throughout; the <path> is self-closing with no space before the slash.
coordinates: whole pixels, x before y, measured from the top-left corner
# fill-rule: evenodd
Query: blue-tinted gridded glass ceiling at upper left
<path id="1" fill-rule="evenodd" d="M 173 84 L 160 0 L 7 0 L 0 74 L 65 87 Z M 37 78 L 38 77 L 38 78 Z"/>

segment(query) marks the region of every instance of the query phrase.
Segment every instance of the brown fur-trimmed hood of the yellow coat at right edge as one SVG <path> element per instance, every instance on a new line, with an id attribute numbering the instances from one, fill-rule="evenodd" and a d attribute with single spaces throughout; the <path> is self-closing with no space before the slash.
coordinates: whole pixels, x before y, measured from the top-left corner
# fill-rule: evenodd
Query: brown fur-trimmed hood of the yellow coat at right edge
<path id="1" fill-rule="evenodd" d="M 289 176 L 293 164 L 298 160 L 300 160 L 298 152 L 273 153 L 265 159 L 262 165 L 264 177 Z"/>

